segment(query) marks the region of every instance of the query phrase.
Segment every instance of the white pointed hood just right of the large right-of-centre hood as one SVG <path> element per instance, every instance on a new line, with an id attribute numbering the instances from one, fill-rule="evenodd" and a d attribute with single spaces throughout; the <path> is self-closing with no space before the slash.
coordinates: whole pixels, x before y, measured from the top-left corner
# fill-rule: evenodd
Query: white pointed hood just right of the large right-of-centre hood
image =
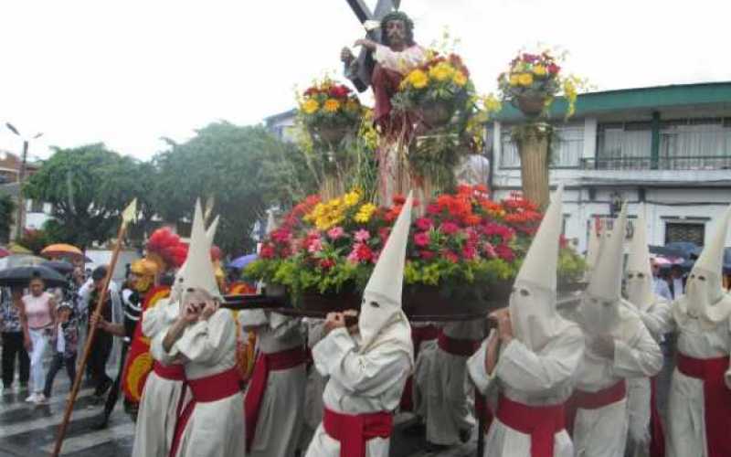
<path id="1" fill-rule="evenodd" d="M 603 242 L 597 265 L 591 273 L 581 297 L 579 313 L 584 329 L 595 335 L 609 335 L 620 323 L 624 234 L 627 226 L 627 205 L 614 221 L 609 238 Z"/>

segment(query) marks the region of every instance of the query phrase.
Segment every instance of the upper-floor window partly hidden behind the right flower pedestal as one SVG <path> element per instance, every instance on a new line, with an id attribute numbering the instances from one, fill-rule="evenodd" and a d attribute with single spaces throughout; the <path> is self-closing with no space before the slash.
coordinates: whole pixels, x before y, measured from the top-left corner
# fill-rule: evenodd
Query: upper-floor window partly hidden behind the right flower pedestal
<path id="1" fill-rule="evenodd" d="M 510 129 L 501 135 L 501 167 L 520 166 L 518 145 L 511 139 Z M 551 141 L 551 166 L 578 166 L 584 152 L 584 127 L 578 125 L 557 126 Z"/>

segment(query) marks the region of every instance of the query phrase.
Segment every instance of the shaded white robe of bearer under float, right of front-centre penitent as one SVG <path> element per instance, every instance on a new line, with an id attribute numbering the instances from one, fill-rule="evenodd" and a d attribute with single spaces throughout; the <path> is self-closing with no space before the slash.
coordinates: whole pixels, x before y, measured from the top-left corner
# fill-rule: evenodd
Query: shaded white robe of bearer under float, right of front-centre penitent
<path id="1" fill-rule="evenodd" d="M 484 324 L 464 321 L 444 324 L 444 335 L 455 339 L 480 341 L 484 337 Z M 427 353 L 429 354 L 429 353 Z M 466 356 L 454 356 L 439 345 L 430 359 L 420 361 L 419 390 L 425 401 L 419 401 L 418 410 L 426 419 L 427 441 L 442 444 L 460 444 L 460 431 L 471 430 L 475 425 L 472 415 L 474 391 L 467 379 Z M 427 372 L 427 367 L 429 370 Z M 427 374 L 428 373 L 428 374 Z"/>

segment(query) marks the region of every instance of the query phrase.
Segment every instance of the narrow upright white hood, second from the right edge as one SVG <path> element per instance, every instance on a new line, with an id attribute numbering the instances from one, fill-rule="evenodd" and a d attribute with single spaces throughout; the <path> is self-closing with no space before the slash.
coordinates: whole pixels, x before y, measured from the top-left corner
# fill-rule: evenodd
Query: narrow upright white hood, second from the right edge
<path id="1" fill-rule="evenodd" d="M 647 246 L 645 206 L 637 209 L 637 220 L 630 243 L 630 257 L 627 260 L 627 299 L 640 311 L 646 311 L 657 302 L 653 292 L 650 249 Z"/>

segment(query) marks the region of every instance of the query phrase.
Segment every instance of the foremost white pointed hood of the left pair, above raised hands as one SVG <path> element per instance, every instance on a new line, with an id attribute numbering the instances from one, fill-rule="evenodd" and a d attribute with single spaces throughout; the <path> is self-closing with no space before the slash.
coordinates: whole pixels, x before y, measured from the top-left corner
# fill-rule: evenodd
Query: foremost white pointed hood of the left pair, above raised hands
<path id="1" fill-rule="evenodd" d="M 193 217 L 193 228 L 190 233 L 190 247 L 188 257 L 185 260 L 185 268 L 181 268 L 183 296 L 187 292 L 199 292 L 207 294 L 217 300 L 221 300 L 218 291 L 216 274 L 213 261 L 211 260 L 211 239 L 209 239 L 203 222 L 203 211 L 200 202 L 196 202 L 196 213 Z"/>

